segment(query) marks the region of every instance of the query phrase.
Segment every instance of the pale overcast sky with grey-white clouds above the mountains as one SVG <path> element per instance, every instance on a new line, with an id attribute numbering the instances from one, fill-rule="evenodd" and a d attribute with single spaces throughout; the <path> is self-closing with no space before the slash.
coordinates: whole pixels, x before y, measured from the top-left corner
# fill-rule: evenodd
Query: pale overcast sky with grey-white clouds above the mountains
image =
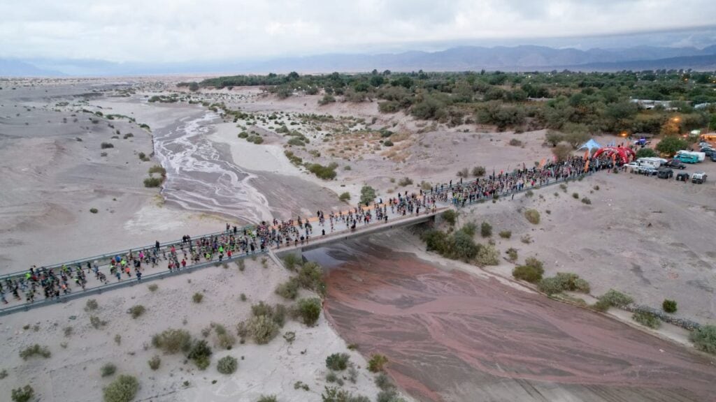
<path id="1" fill-rule="evenodd" d="M 0 57 L 248 60 L 715 21 L 713 0 L 0 0 Z"/>

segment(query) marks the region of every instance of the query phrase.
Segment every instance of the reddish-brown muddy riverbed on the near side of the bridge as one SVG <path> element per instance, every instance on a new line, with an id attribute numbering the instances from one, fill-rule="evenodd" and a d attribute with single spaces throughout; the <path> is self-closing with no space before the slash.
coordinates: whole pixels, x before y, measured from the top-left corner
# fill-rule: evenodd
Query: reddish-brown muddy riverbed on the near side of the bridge
<path id="1" fill-rule="evenodd" d="M 368 242 L 332 266 L 326 316 L 420 401 L 714 401 L 713 359 L 624 323 Z"/>

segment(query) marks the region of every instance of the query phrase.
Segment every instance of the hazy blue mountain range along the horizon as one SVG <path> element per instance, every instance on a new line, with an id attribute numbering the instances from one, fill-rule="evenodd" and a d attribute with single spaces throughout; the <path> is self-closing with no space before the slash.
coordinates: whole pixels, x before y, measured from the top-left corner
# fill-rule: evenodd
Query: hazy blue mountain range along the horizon
<path id="1" fill-rule="evenodd" d="M 0 77 L 122 76 L 149 74 L 248 74 L 405 71 L 716 71 L 716 45 L 634 46 L 620 49 L 548 46 L 458 46 L 438 52 L 321 54 L 253 62 L 115 63 L 91 59 L 0 59 Z"/>

